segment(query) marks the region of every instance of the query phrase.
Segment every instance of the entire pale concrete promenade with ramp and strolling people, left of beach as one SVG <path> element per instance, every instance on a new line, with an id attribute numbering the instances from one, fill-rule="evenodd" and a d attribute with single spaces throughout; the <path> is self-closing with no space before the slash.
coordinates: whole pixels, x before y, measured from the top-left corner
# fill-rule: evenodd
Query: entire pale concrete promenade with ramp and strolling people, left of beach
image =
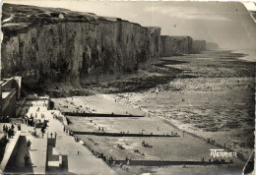
<path id="1" fill-rule="evenodd" d="M 42 101 L 28 101 L 28 103 L 30 105 L 25 106 L 23 111 L 28 111 L 27 114 L 37 112 L 39 114 L 37 115 L 38 118 L 43 114 L 44 118 L 48 120 L 48 127 L 43 137 L 40 128 L 36 128 L 36 137 L 34 137 L 32 136 L 33 127 L 21 124 L 22 131 L 16 158 L 12 159 L 11 164 L 8 163 L 5 173 L 115 174 L 105 162 L 96 158 L 86 146 L 75 142 L 72 136 L 66 135 L 66 132 L 63 131 L 63 124 L 53 118 L 54 114 L 60 114 L 59 111 L 47 110 L 47 106 Z M 39 111 L 37 111 L 38 107 Z M 17 125 L 15 127 L 17 131 Z M 32 142 L 31 150 L 27 146 L 29 140 Z M 47 146 L 50 150 L 47 150 Z M 30 164 L 27 166 L 25 166 L 24 161 L 26 154 L 30 157 Z M 52 161 L 54 157 L 55 161 Z"/>

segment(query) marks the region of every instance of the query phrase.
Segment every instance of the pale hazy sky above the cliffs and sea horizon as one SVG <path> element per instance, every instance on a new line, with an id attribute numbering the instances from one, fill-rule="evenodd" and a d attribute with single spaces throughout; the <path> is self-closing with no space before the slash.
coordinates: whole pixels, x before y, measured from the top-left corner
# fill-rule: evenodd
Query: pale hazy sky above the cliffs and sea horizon
<path id="1" fill-rule="evenodd" d="M 118 2 L 84 0 L 4 0 L 6 3 L 65 8 L 117 17 L 144 27 L 161 28 L 162 35 L 190 35 L 217 42 L 223 48 L 256 49 L 256 23 L 239 2 Z M 245 8 L 246 7 L 246 8 Z"/>

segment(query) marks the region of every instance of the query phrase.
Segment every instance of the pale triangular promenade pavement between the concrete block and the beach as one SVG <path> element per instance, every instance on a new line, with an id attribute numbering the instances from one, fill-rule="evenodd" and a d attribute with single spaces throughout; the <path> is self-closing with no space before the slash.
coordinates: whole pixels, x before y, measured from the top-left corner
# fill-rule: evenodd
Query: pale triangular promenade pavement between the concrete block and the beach
<path id="1" fill-rule="evenodd" d="M 62 155 L 67 155 L 68 162 L 63 162 L 63 164 L 68 164 L 68 172 L 63 173 L 114 174 L 114 171 L 101 159 L 96 158 L 86 146 L 75 142 L 73 137 L 67 136 L 63 128 L 63 125 L 57 119 L 53 119 L 52 116 L 49 117 L 48 137 L 51 138 L 50 133 L 52 133 L 52 137 L 55 138 L 54 134 L 56 132 L 55 149 Z"/>

